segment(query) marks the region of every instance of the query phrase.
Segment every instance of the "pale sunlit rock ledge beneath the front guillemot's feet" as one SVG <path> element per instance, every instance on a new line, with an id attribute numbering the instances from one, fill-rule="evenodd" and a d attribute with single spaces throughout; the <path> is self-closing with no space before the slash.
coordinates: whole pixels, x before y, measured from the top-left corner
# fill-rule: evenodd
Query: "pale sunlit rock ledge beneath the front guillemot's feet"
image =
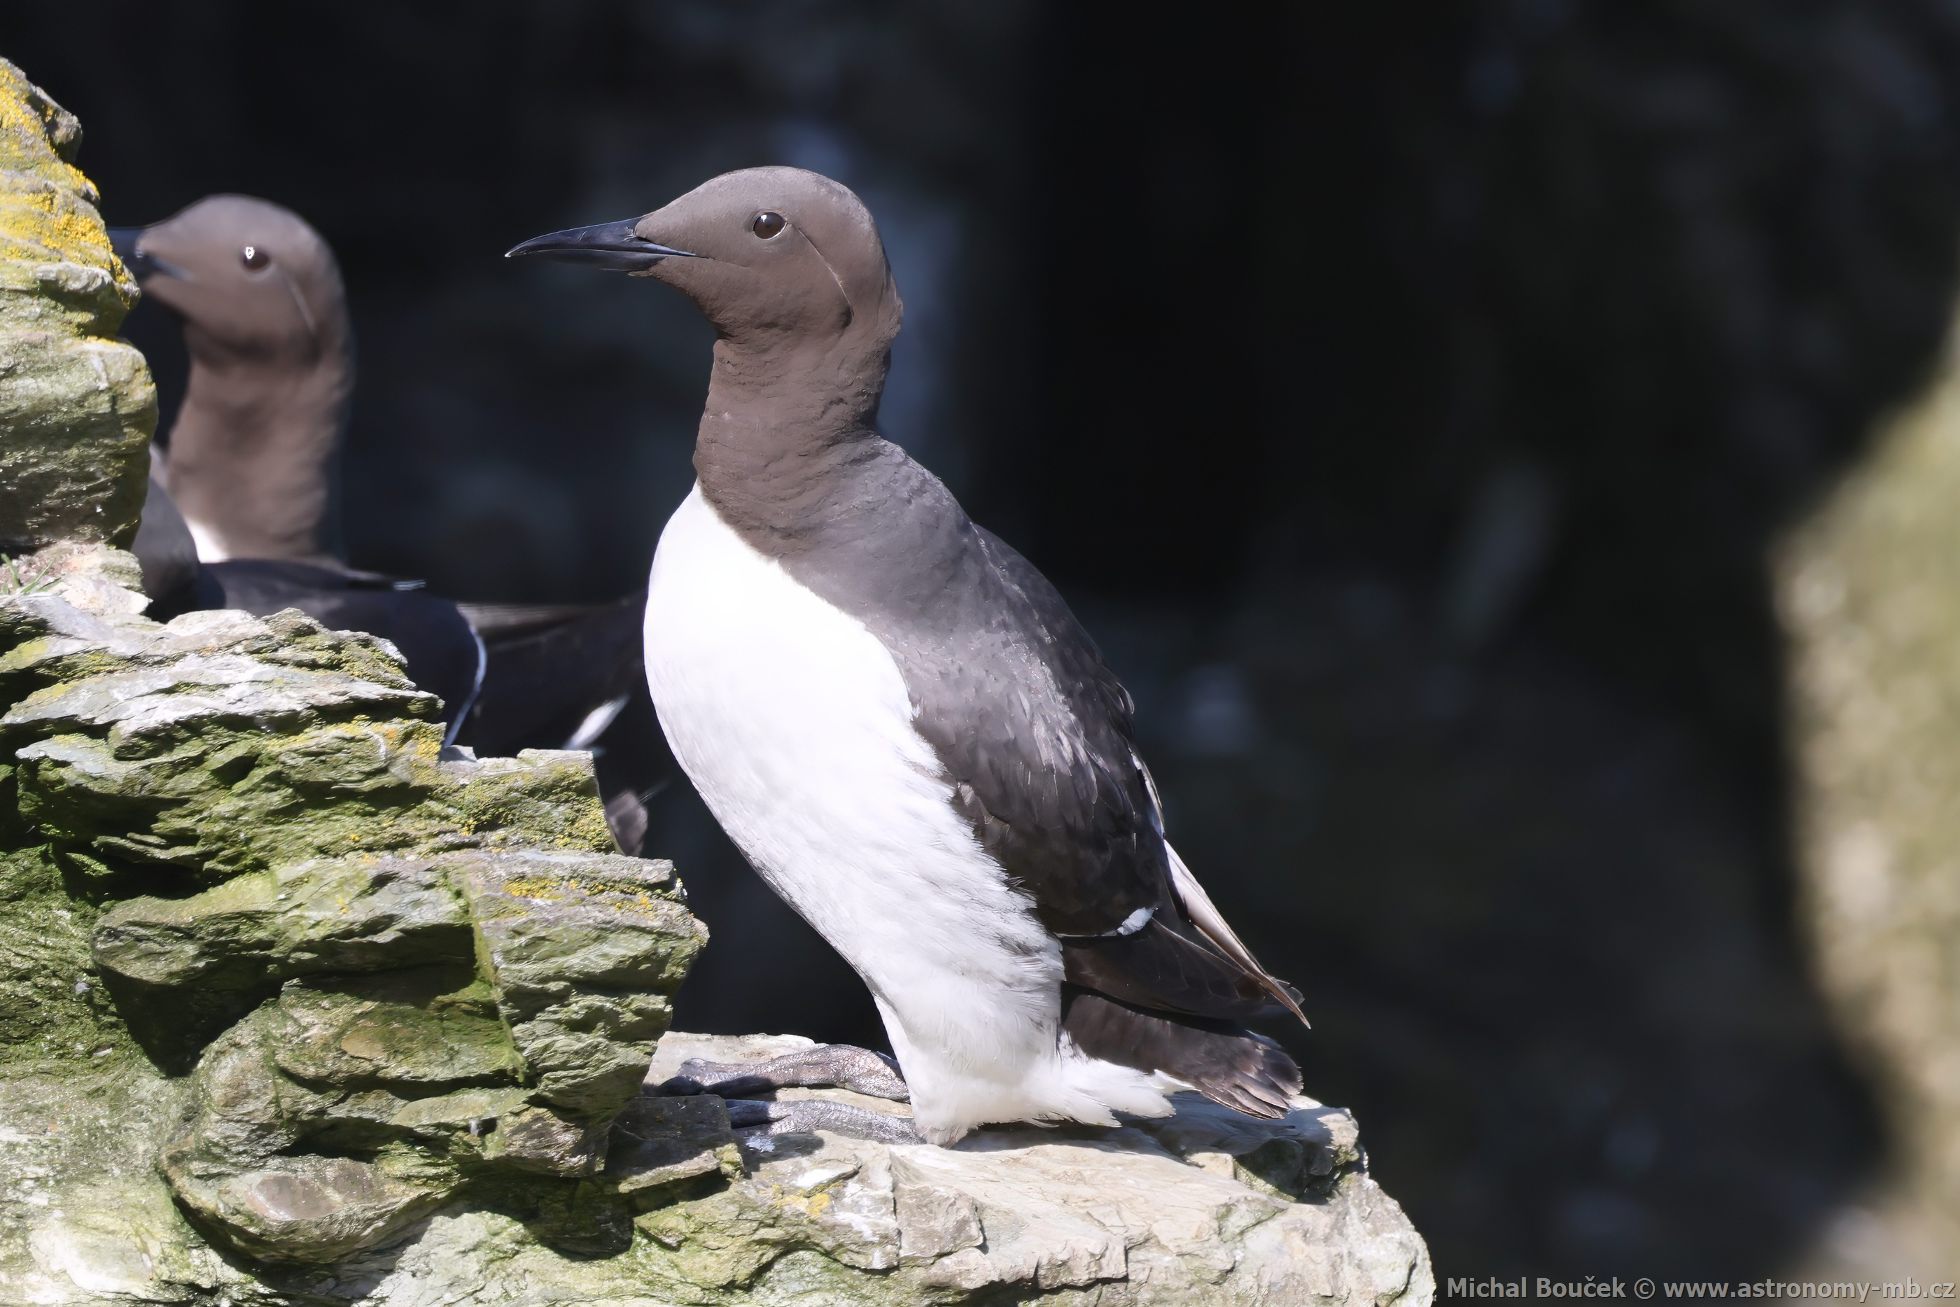
<path id="1" fill-rule="evenodd" d="M 690 1056 L 747 1062 L 806 1042 L 670 1035 L 649 1080 Z M 790 1137 L 747 1162 L 731 1184 L 639 1217 L 653 1244 L 641 1283 L 674 1301 L 894 1307 L 1435 1293 L 1421 1238 L 1368 1178 L 1354 1119 L 1307 1099 L 1262 1123 L 1186 1093 L 1166 1121 L 994 1129 L 956 1148 Z"/>

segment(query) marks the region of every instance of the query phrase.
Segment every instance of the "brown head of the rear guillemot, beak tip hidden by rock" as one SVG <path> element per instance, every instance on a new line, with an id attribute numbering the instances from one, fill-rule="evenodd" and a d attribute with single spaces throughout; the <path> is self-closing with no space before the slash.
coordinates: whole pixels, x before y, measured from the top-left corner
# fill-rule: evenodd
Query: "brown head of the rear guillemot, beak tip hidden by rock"
<path id="1" fill-rule="evenodd" d="M 192 359 L 312 363 L 347 345 L 333 251 L 304 218 L 253 196 L 208 196 L 149 227 L 110 231 L 147 300 L 184 319 Z"/>

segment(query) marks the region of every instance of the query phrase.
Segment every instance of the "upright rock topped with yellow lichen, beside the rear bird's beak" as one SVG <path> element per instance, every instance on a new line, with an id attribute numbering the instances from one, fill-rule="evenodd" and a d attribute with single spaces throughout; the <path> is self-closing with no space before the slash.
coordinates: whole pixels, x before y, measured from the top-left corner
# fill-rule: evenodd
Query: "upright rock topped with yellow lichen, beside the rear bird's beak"
<path id="1" fill-rule="evenodd" d="M 74 167 L 71 114 L 0 59 L 0 553 L 127 543 L 157 392 L 114 339 L 135 282 Z"/>

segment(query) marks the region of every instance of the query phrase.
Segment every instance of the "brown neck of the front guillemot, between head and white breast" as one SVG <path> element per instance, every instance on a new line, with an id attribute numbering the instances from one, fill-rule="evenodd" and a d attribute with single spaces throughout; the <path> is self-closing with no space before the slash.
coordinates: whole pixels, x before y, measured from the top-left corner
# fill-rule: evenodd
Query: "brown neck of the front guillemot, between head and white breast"
<path id="1" fill-rule="evenodd" d="M 829 517 L 860 508 L 851 470 L 882 443 L 888 357 L 884 341 L 849 337 L 766 351 L 717 341 L 694 441 L 715 511 L 751 543 L 794 553 Z"/>

